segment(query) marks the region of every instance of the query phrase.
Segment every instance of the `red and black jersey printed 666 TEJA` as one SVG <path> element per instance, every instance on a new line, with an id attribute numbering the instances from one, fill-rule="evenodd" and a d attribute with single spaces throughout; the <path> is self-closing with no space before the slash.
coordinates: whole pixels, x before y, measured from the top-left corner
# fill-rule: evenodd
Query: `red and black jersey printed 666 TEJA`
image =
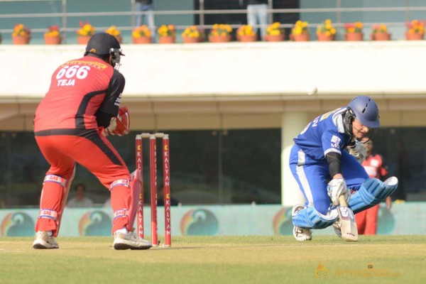
<path id="1" fill-rule="evenodd" d="M 94 56 L 60 65 L 35 111 L 34 131 L 97 129 L 97 111 L 116 116 L 124 76 Z"/>

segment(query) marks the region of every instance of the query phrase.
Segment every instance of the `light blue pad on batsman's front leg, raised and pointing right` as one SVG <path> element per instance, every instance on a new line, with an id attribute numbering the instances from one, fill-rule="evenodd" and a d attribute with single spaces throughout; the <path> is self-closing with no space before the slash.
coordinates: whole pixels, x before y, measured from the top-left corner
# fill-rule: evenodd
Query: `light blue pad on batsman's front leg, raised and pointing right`
<path id="1" fill-rule="evenodd" d="M 390 196 L 398 187 L 398 178 L 391 177 L 385 182 L 377 178 L 369 178 L 362 183 L 359 190 L 351 196 L 349 207 L 354 213 L 361 212 L 365 209 L 379 204 L 386 197 Z"/>

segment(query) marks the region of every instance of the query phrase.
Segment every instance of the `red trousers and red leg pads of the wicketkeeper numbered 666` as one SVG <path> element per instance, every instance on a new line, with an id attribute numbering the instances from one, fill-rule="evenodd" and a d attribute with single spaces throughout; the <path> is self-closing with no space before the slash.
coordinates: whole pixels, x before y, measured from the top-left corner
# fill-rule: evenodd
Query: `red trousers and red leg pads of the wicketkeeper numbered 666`
<path id="1" fill-rule="evenodd" d="M 87 168 L 109 190 L 116 180 L 129 180 L 130 173 L 126 164 L 114 146 L 100 131 L 89 130 L 76 135 L 46 135 L 35 133 L 35 141 L 41 153 L 50 164 L 46 175 L 57 175 L 69 180 L 75 163 Z M 53 132 L 55 133 L 55 132 Z M 53 231 L 58 235 L 60 217 L 55 221 L 55 214 L 61 216 L 67 192 L 57 182 L 44 182 L 40 197 L 40 217 L 35 225 L 35 231 Z M 126 185 L 116 185 L 111 190 L 111 207 L 114 212 L 129 209 L 131 204 L 131 190 Z M 51 219 L 41 218 L 42 210 L 51 213 Z M 112 231 L 121 229 L 129 224 L 128 217 L 116 218 L 113 221 Z M 131 228 L 128 228 L 131 229 Z"/>

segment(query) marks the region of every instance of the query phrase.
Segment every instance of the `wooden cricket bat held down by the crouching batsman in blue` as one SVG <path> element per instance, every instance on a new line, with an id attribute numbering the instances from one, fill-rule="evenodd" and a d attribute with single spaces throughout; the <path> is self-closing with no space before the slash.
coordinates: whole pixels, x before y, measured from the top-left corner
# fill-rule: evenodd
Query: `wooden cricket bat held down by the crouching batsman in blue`
<path id="1" fill-rule="evenodd" d="M 346 204 L 343 195 L 339 196 L 339 203 L 337 212 L 339 212 L 342 239 L 344 241 L 358 241 L 358 228 L 356 227 L 354 212 L 348 207 L 348 204 Z"/>

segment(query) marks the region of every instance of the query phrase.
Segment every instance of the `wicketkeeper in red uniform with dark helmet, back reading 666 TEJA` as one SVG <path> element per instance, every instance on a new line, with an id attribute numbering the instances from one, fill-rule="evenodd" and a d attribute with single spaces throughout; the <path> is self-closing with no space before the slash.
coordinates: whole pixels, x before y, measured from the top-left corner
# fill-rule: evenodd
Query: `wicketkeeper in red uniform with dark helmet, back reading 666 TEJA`
<path id="1" fill-rule="evenodd" d="M 132 187 L 135 183 L 126 164 L 106 138 L 129 133 L 129 112 L 120 107 L 125 80 L 116 69 L 121 55 L 114 36 L 96 33 L 82 58 L 65 62 L 53 72 L 50 88 L 35 111 L 35 141 L 50 169 L 43 181 L 34 249 L 59 247 L 55 236 L 75 163 L 111 192 L 114 249 L 151 248 L 150 241 L 133 233 L 138 188 Z"/>

